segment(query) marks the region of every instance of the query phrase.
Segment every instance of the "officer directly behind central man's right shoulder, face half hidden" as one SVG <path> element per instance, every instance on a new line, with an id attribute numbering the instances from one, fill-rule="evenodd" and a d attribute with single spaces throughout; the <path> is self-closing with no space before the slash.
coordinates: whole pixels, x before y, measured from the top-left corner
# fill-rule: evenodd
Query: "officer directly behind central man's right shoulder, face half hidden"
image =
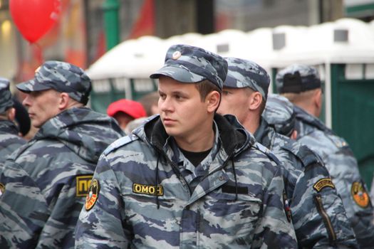
<path id="1" fill-rule="evenodd" d="M 356 248 L 355 236 L 341 198 L 328 171 L 316 154 L 275 132 L 261 118 L 270 78 L 260 65 L 239 58 L 226 58 L 229 65 L 219 113 L 232 114 L 254 133 L 258 142 L 281 160 L 285 177 L 289 220 L 294 223 L 299 248 Z M 291 120 L 291 117 L 289 117 Z M 284 133 L 291 136 L 292 127 Z"/>

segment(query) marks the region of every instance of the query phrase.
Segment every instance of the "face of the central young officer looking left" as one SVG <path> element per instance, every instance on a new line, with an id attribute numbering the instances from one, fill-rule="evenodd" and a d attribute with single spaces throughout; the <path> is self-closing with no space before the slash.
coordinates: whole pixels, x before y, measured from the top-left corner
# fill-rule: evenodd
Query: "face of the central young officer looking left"
<path id="1" fill-rule="evenodd" d="M 180 83 L 161 76 L 158 85 L 160 99 L 158 108 L 167 134 L 177 139 L 189 139 L 199 133 L 201 127 L 209 125 L 207 102 L 202 102 L 193 83 Z"/>

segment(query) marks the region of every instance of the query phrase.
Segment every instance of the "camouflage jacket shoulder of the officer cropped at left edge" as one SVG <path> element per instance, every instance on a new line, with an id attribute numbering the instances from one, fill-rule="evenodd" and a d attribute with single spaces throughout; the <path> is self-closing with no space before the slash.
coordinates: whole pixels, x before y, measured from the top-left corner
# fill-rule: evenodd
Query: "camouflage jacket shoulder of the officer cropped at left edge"
<path id="1" fill-rule="evenodd" d="M 14 122 L 0 120 L 0 162 L 4 162 L 6 157 L 26 144 L 26 140 L 19 137 L 18 133 L 19 130 Z"/>

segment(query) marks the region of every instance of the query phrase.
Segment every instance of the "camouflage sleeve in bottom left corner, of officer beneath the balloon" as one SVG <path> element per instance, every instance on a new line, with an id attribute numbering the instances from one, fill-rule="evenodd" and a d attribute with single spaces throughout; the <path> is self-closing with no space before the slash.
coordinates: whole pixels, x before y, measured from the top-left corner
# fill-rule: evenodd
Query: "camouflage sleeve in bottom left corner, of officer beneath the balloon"
<path id="1" fill-rule="evenodd" d="M 34 248 L 50 211 L 41 190 L 21 166 L 8 160 L 0 183 L 0 248 Z"/>

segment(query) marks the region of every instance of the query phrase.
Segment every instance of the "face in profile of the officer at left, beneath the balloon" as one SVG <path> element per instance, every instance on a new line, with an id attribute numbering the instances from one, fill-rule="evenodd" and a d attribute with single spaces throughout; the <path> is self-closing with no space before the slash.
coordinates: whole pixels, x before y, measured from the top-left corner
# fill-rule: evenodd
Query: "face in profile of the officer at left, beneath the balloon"
<path id="1" fill-rule="evenodd" d="M 23 104 L 28 107 L 31 124 L 40 128 L 46 121 L 58 115 L 61 112 L 58 109 L 60 100 L 60 92 L 56 90 L 30 92 L 24 99 Z"/>

